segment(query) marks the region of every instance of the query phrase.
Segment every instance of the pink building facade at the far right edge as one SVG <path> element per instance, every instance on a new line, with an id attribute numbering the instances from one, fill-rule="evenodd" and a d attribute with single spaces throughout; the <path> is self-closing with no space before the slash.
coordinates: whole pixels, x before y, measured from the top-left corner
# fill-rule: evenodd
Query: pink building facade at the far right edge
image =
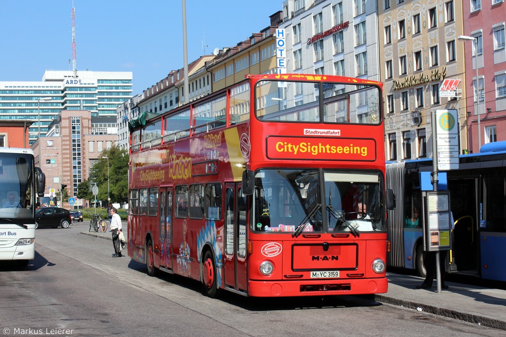
<path id="1" fill-rule="evenodd" d="M 506 47 L 504 0 L 463 2 L 468 132 L 471 148 L 506 140 Z M 476 45 L 476 42 L 477 45 Z M 478 47 L 477 47 L 478 46 Z M 478 95 L 476 88 L 478 65 Z M 486 67 L 485 67 L 486 65 Z M 478 97 L 478 100 L 477 100 Z M 478 102 L 477 102 L 478 101 Z M 478 118 L 479 117 L 479 118 Z M 479 130 L 479 131 L 478 131 Z"/>

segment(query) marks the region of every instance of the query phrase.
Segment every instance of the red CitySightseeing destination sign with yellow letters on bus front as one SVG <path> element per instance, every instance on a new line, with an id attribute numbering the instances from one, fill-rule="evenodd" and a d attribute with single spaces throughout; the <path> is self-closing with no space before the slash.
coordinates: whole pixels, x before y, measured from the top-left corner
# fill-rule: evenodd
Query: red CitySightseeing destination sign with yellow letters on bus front
<path id="1" fill-rule="evenodd" d="M 270 136 L 267 158 L 374 161 L 376 142 L 374 139 Z"/>

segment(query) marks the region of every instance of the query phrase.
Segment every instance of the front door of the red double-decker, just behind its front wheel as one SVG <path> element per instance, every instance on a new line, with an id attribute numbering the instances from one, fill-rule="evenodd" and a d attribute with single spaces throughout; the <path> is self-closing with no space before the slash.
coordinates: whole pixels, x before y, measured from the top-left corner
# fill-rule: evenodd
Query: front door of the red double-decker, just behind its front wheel
<path id="1" fill-rule="evenodd" d="M 247 292 L 246 196 L 240 183 L 227 183 L 225 190 L 225 287 Z"/>

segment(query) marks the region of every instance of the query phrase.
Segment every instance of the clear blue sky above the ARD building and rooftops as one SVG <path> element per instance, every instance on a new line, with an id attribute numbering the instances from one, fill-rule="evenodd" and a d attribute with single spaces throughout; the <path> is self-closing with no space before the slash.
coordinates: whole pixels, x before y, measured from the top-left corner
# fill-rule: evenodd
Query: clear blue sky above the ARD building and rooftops
<path id="1" fill-rule="evenodd" d="M 132 71 L 133 94 L 183 68 L 182 0 L 74 0 L 77 70 Z M 270 25 L 282 0 L 186 0 L 188 62 Z M 72 0 L 0 0 L 0 81 L 72 69 Z M 70 60 L 70 63 L 69 63 Z"/>

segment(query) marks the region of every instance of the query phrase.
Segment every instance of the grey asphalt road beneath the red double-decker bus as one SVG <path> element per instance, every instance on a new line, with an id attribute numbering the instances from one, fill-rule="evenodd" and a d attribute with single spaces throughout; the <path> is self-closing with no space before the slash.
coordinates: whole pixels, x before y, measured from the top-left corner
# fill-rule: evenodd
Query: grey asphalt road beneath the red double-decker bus
<path id="1" fill-rule="evenodd" d="M 38 229 L 33 263 L 2 265 L 0 335 L 504 335 L 361 297 L 209 299 L 196 281 L 111 258 L 111 241 L 79 234 L 87 229 Z"/>

